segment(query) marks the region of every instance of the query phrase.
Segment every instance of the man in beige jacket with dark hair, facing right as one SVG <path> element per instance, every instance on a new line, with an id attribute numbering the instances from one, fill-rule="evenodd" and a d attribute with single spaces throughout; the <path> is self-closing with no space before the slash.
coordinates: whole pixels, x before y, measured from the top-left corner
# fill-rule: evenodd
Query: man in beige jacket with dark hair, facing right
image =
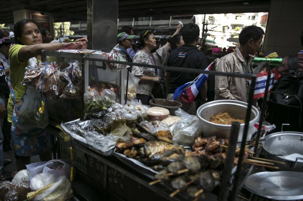
<path id="1" fill-rule="evenodd" d="M 245 27 L 239 34 L 240 47 L 225 55 L 218 63 L 217 71 L 252 74 L 253 61 L 249 54 L 254 54 L 261 46 L 264 31 L 254 25 Z M 215 76 L 215 100 L 238 100 L 247 102 L 249 81 L 247 78 Z"/>

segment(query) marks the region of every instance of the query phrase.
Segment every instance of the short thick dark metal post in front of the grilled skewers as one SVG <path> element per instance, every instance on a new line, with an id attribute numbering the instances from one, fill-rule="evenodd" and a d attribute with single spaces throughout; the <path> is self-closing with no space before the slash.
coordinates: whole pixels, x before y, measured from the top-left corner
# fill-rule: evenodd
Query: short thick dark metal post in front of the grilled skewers
<path id="1" fill-rule="evenodd" d="M 237 147 L 238 134 L 240 130 L 239 122 L 231 123 L 231 130 L 228 140 L 228 149 L 225 158 L 225 164 L 222 171 L 222 183 L 221 183 L 221 191 L 219 195 L 218 201 L 225 201 L 229 195 L 229 187 L 230 187 L 230 178 L 231 178 L 231 170 L 234 164 L 234 157 Z"/>

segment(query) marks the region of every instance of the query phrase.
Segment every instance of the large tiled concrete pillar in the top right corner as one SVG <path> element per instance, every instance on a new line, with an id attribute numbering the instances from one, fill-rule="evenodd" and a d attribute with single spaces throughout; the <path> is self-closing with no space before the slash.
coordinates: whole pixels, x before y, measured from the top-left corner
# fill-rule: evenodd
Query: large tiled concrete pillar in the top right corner
<path id="1" fill-rule="evenodd" d="M 279 56 L 297 55 L 303 49 L 303 1 L 271 0 L 263 52 L 275 51 Z"/>

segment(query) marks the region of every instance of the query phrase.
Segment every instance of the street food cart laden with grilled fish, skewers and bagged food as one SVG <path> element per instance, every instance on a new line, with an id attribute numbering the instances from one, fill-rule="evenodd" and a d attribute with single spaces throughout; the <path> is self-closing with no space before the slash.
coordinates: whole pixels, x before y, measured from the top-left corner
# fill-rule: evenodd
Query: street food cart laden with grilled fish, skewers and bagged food
<path id="1" fill-rule="evenodd" d="M 265 111 L 260 115 L 252 98 L 248 103 L 212 101 L 193 116 L 157 99 L 161 107 L 142 105 L 135 99 L 136 88 L 128 72 L 132 65 L 184 69 L 125 62 L 113 51 L 102 50 L 42 51 L 42 58 L 56 61 L 67 75 L 61 98 L 47 100 L 49 125 L 45 129 L 56 139 L 54 158 L 71 159 L 77 170 L 76 197 L 227 200 L 230 196 L 234 200 L 241 197 L 238 193 L 255 167 L 278 168 L 258 157 L 261 126 L 255 128 L 255 124 L 263 122 Z M 280 60 L 255 62 L 259 69 L 265 65 L 268 70 L 269 63 L 281 64 Z M 256 74 L 207 73 L 251 78 L 255 86 Z"/>

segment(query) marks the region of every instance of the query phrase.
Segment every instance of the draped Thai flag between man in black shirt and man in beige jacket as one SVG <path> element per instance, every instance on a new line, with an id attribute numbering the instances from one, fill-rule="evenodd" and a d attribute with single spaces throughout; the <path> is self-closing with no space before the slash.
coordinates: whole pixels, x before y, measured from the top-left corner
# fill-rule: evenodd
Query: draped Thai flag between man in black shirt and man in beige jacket
<path id="1" fill-rule="evenodd" d="M 214 62 L 212 62 L 205 70 L 209 71 Z M 197 97 L 199 91 L 203 87 L 208 74 L 201 73 L 193 81 L 188 82 L 175 90 L 173 100 L 181 96 L 182 100 L 186 103 L 192 103 Z"/>

